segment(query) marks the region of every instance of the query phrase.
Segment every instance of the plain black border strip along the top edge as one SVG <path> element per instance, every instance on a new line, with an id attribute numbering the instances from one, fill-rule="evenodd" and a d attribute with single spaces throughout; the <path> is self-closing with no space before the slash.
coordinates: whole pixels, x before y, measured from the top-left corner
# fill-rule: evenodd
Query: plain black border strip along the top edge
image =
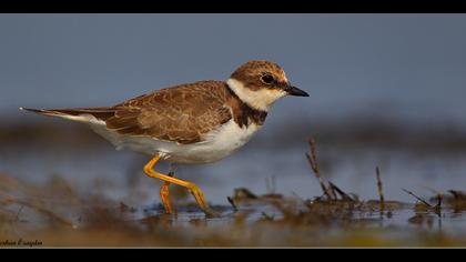
<path id="1" fill-rule="evenodd" d="M 1 0 L 14 13 L 460 13 L 462 0 Z"/>

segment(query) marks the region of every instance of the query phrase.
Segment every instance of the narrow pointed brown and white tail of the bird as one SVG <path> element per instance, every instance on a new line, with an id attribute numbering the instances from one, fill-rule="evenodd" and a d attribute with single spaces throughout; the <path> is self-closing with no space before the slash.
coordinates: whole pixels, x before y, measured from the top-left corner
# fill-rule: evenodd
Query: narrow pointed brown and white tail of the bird
<path id="1" fill-rule="evenodd" d="M 98 120 L 105 121 L 107 119 L 114 115 L 115 110 L 112 108 L 83 108 L 83 109 L 31 109 L 31 108 L 20 108 L 23 111 L 30 111 L 49 117 L 59 117 L 74 121 L 84 121 L 90 120 L 89 115 L 94 117 Z"/>

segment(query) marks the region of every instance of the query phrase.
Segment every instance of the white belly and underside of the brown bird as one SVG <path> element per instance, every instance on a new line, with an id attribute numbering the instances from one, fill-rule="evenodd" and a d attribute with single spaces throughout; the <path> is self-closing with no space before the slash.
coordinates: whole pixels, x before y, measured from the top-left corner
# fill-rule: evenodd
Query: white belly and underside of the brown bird
<path id="1" fill-rule="evenodd" d="M 160 153 L 163 160 L 174 163 L 209 163 L 221 160 L 241 147 L 257 132 L 261 125 L 251 123 L 240 128 L 230 120 L 217 130 L 206 134 L 205 141 L 194 144 L 179 144 L 160 141 L 148 137 L 124 137 L 109 131 L 102 122 L 91 122 L 91 128 L 109 140 L 118 150 L 132 151 L 154 155 Z"/>

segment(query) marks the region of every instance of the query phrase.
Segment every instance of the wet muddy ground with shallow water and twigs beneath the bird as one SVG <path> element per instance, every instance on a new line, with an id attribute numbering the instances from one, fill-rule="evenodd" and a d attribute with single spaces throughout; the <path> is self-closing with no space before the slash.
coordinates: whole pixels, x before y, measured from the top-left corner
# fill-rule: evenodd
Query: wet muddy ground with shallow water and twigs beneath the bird
<path id="1" fill-rule="evenodd" d="M 337 189 L 328 198 L 305 157 L 305 137 L 286 147 L 262 137 L 221 162 L 179 167 L 176 177 L 200 185 L 219 213 L 205 218 L 176 187 L 176 212 L 163 213 L 161 182 L 141 171 L 148 157 L 114 151 L 81 125 L 32 128 L 0 135 L 1 245 L 466 244 L 466 150 L 459 139 L 416 137 L 421 142 L 408 144 L 316 132 L 321 177 Z M 376 167 L 384 205 L 377 202 Z"/>

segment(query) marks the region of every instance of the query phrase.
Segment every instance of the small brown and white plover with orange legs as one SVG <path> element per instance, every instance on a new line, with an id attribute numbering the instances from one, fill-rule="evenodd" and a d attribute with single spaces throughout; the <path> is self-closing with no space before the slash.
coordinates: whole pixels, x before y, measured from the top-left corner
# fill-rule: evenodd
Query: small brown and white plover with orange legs
<path id="1" fill-rule="evenodd" d="M 287 95 L 308 93 L 292 85 L 277 63 L 252 60 L 226 81 L 173 85 L 111 107 L 20 110 L 87 123 L 116 150 L 150 155 L 143 171 L 163 181 L 160 196 L 165 213 L 172 213 L 169 187 L 176 184 L 190 191 L 206 215 L 213 215 L 195 183 L 158 172 L 155 164 L 203 164 L 226 158 L 250 141 L 271 107 Z"/>

